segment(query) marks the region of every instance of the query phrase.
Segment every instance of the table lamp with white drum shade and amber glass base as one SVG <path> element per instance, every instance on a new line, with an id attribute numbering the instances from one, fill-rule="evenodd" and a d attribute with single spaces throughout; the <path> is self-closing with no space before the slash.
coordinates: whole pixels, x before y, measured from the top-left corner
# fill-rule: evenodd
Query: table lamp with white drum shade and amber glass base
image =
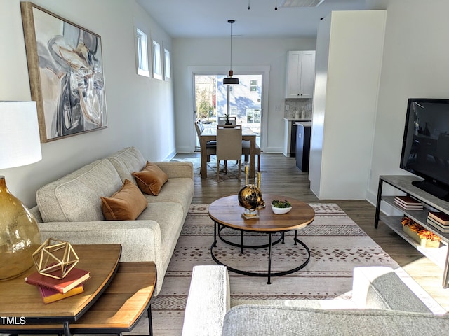
<path id="1" fill-rule="evenodd" d="M 41 160 L 36 102 L 0 102 L 0 120 L 0 169 Z M 0 281 L 32 267 L 32 254 L 40 245 L 36 219 L 0 176 Z"/>

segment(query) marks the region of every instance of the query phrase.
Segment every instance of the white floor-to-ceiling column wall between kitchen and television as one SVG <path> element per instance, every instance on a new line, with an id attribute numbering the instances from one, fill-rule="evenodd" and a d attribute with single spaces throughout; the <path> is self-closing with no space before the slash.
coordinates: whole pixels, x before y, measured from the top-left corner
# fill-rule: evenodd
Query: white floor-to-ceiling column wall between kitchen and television
<path id="1" fill-rule="evenodd" d="M 320 24 L 309 165 L 320 200 L 366 197 L 385 18 L 335 11 Z"/>

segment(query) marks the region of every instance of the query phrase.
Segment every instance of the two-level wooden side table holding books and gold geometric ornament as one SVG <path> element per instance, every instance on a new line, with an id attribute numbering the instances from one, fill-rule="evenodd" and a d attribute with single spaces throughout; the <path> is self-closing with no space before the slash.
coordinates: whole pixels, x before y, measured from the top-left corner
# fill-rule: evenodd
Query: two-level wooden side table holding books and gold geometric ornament
<path id="1" fill-rule="evenodd" d="M 77 267 L 91 272 L 84 293 L 43 304 L 39 290 L 23 277 L 0 282 L 0 332 L 13 334 L 72 332 L 115 333 L 130 331 L 142 314 L 149 313 L 156 284 L 154 262 L 119 262 L 121 246 L 74 245 Z"/>

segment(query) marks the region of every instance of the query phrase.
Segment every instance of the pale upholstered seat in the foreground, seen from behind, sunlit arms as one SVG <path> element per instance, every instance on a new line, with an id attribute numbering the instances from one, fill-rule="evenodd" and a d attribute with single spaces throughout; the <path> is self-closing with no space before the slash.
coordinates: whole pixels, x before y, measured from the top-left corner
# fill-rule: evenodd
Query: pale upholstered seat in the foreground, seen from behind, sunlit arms
<path id="1" fill-rule="evenodd" d="M 344 309 L 333 300 L 239 304 L 229 309 L 229 293 L 225 266 L 194 267 L 182 335 L 430 336 L 449 330 L 449 314 L 433 314 L 429 306 L 436 302 L 424 304 L 389 267 L 356 267 L 353 300 Z"/>

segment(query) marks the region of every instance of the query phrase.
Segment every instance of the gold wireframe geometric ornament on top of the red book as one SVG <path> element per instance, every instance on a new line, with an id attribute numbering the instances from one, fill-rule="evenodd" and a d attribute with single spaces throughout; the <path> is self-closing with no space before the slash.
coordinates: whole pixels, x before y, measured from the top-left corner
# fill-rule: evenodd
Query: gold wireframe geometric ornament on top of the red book
<path id="1" fill-rule="evenodd" d="M 64 279 L 79 262 L 69 242 L 52 238 L 44 241 L 32 256 L 39 274 L 54 279 Z"/>

